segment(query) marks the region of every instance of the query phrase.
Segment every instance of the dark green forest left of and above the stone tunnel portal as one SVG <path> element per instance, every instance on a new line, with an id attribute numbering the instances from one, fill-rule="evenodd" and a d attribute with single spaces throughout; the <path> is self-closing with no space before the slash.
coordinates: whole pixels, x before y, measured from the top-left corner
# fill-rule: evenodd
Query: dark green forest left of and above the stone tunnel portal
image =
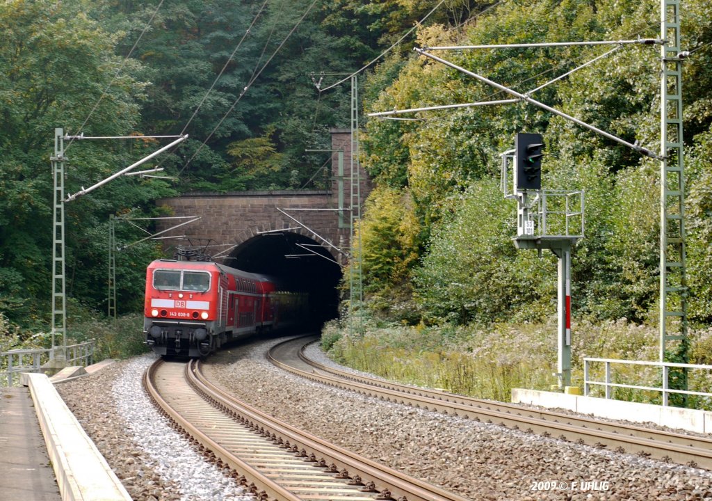
<path id="1" fill-rule="evenodd" d="M 441 9 L 439 20 L 459 11 Z M 110 215 L 163 215 L 183 190 L 324 187 L 328 129 L 347 126 L 350 89 L 319 93 L 410 29 L 429 2 L 11 0 L 0 6 L 0 311 L 46 329 L 51 296 L 54 130 L 189 139 L 145 167 L 66 203 L 68 320 L 106 311 Z M 404 50 L 404 47 L 401 47 Z M 216 79 L 217 76 L 220 76 Z M 66 140 L 66 194 L 166 144 Z M 322 171 L 323 172 L 323 171 Z M 118 244 L 145 220 L 116 224 Z M 119 313 L 140 310 L 153 244 L 117 253 Z M 93 315 L 93 314 L 91 314 Z M 71 328 L 71 327 L 70 327 Z"/>

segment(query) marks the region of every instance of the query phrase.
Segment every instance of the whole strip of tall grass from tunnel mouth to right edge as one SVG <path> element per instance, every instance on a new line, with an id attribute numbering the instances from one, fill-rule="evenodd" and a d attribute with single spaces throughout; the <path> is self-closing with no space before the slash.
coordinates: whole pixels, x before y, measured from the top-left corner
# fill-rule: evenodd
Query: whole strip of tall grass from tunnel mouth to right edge
<path id="1" fill-rule="evenodd" d="M 658 332 L 625 319 L 572 326 L 572 384 L 583 386 L 583 358 L 654 361 Z M 366 324 L 366 334 L 350 336 L 331 322 L 323 331 L 323 347 L 335 361 L 361 371 L 404 383 L 441 388 L 453 393 L 509 401 L 512 388 L 548 390 L 557 383 L 557 326 L 498 324 L 476 326 L 399 326 Z M 712 361 L 712 330 L 691 332 L 691 363 Z M 603 381 L 603 364 L 591 376 Z M 613 381 L 637 386 L 661 386 L 657 368 L 616 366 Z M 596 388 L 596 387 L 594 387 Z M 691 371 L 689 388 L 711 391 L 711 371 Z M 597 392 L 597 393 L 596 393 Z M 602 391 L 595 390 L 597 395 Z M 654 391 L 617 388 L 615 398 L 660 403 Z M 689 406 L 711 408 L 705 398 L 689 399 Z"/>

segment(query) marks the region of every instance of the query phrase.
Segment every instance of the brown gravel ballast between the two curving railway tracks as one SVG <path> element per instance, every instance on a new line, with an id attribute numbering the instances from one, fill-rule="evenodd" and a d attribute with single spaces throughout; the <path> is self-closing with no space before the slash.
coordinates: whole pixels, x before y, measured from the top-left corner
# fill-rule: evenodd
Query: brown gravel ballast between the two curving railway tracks
<path id="1" fill-rule="evenodd" d="M 712 474 L 441 415 L 305 381 L 268 341 L 218 353 L 206 373 L 315 435 L 473 500 L 712 500 Z M 318 347 L 310 358 L 330 363 Z M 573 487 L 573 488 L 572 488 Z"/>

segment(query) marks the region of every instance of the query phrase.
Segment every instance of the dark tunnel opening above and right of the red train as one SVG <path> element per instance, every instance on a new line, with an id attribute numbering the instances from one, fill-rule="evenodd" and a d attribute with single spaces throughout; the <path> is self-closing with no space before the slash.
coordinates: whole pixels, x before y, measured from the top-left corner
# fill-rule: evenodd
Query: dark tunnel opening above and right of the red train
<path id="1" fill-rule="evenodd" d="M 270 275 L 290 289 L 308 292 L 310 326 L 319 327 L 338 314 L 341 267 L 309 237 L 288 231 L 259 234 L 234 249 L 224 264 Z"/>

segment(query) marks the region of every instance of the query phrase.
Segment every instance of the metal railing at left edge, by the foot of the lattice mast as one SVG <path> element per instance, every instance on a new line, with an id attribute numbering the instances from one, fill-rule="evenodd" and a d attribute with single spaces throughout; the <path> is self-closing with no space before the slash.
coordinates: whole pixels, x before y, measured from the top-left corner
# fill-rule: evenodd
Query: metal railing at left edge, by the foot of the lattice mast
<path id="1" fill-rule="evenodd" d="M 68 366 L 89 366 L 94 363 L 95 341 L 57 346 L 54 353 L 51 348 L 19 349 L 0 353 L 0 386 L 16 386 L 20 373 L 42 372 L 43 364 L 53 358 L 61 359 Z"/>

